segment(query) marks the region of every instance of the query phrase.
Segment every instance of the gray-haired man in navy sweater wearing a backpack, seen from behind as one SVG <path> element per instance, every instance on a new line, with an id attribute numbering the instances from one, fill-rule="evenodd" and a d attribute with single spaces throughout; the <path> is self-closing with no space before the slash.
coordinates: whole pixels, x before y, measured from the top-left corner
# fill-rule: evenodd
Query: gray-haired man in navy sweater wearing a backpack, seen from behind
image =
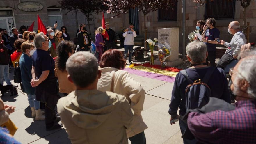
<path id="1" fill-rule="evenodd" d="M 211 77 L 207 83 L 207 85 L 211 89 L 211 96 L 220 98 L 230 103 L 230 92 L 228 91 L 228 82 L 226 79 L 226 75 L 224 70 L 221 68 L 208 67 L 203 63 L 206 62 L 206 58 L 208 55 L 207 47 L 205 43 L 199 41 L 193 41 L 189 43 L 186 47 L 187 58 L 191 62 L 192 67 L 186 69 L 188 77 L 191 81 L 195 81 L 198 79 L 203 79 L 209 71 L 213 71 L 213 73 L 209 76 Z M 171 103 L 169 105 L 169 114 L 171 115 L 170 120 L 175 118 L 179 118 L 179 115 L 183 116 L 186 113 L 186 97 L 185 91 L 186 86 L 189 85 L 189 81 L 179 72 L 176 75 Z M 177 114 L 178 108 L 180 109 L 179 115 Z M 175 123 L 171 123 L 175 124 Z M 182 120 L 179 120 L 179 126 L 182 134 L 185 132 L 187 125 Z M 196 143 L 196 140 L 187 140 L 183 138 L 184 143 Z"/>

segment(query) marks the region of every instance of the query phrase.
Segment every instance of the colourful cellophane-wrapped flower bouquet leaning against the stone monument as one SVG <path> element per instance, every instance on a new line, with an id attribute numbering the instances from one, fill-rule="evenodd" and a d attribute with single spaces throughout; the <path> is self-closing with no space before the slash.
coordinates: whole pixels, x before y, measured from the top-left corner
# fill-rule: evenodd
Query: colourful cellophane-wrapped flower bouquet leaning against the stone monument
<path id="1" fill-rule="evenodd" d="M 164 44 L 158 44 L 158 57 L 161 61 L 161 66 L 164 68 L 166 67 L 166 63 L 164 62 L 166 58 L 168 58 L 171 55 L 171 47 L 168 45 L 167 42 Z M 163 63 L 164 62 L 164 63 Z"/>

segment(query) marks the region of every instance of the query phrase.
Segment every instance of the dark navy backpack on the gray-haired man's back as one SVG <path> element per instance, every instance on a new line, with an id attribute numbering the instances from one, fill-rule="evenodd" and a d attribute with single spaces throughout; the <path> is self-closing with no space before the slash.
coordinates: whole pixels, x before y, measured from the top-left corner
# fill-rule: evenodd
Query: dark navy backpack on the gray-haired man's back
<path id="1" fill-rule="evenodd" d="M 211 75 L 216 67 L 209 67 L 205 73 L 205 77 L 201 80 L 192 81 L 186 70 L 182 70 L 182 75 L 187 79 L 189 85 L 186 87 L 186 111 L 189 109 L 202 108 L 205 106 L 211 97 L 211 88 L 207 85 Z"/>

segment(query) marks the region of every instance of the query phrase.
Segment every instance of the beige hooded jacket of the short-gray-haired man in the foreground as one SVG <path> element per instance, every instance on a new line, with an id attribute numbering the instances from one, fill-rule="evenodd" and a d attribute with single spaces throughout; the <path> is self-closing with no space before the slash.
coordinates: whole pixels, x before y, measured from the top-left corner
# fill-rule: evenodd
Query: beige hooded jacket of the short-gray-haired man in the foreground
<path id="1" fill-rule="evenodd" d="M 57 106 L 72 144 L 128 144 L 125 129 L 133 113 L 124 96 L 75 90 L 59 99 Z"/>

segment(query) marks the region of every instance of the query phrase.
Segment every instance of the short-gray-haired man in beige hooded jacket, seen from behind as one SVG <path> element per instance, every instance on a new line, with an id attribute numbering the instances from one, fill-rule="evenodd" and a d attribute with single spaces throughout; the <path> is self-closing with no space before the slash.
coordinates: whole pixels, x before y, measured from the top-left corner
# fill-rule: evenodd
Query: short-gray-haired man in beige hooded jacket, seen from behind
<path id="1" fill-rule="evenodd" d="M 61 122 L 72 144 L 128 144 L 131 107 L 125 96 L 97 90 L 101 77 L 97 62 L 89 52 L 77 52 L 68 58 L 68 80 L 76 90 L 58 101 Z"/>

